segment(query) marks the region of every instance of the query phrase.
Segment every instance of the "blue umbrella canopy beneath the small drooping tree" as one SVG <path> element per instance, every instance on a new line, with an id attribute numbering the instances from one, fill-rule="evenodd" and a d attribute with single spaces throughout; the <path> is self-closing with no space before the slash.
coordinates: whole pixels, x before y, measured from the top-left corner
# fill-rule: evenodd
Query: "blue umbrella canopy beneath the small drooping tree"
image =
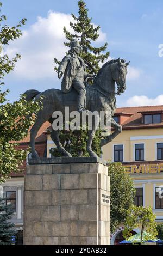
<path id="1" fill-rule="evenodd" d="M 147 233 L 146 231 L 143 231 L 142 241 L 143 242 L 149 242 L 149 241 L 157 242 L 158 240 L 160 240 L 160 239 L 150 240 L 151 236 L 152 236 L 151 234 Z M 119 244 L 122 244 L 122 243 L 140 243 L 140 242 L 141 242 L 141 232 L 137 233 L 137 234 L 135 234 L 133 236 L 130 236 L 128 239 L 123 240 Z"/>

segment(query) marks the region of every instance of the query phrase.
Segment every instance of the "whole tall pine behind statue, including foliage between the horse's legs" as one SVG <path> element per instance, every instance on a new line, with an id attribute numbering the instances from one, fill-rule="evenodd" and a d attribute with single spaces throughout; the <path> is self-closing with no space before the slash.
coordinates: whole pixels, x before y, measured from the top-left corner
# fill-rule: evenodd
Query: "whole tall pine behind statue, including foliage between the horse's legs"
<path id="1" fill-rule="evenodd" d="M 64 42 L 64 44 L 70 47 L 70 42 L 72 40 L 78 39 L 80 41 L 80 53 L 79 56 L 83 58 L 85 64 L 87 65 L 86 71 L 90 74 L 97 74 L 99 70 L 99 62 L 103 63 L 104 60 L 108 59 L 109 52 L 102 53 L 106 50 L 108 43 L 101 47 L 95 47 L 91 45 L 92 41 L 96 41 L 99 38 L 99 29 L 100 26 L 93 26 L 92 19 L 88 17 L 88 9 L 86 8 L 86 3 L 83 0 L 78 1 L 79 16 L 71 14 L 74 20 L 70 22 L 70 26 L 73 28 L 74 34 L 68 32 L 66 27 L 64 27 L 64 32 L 66 39 L 69 42 Z M 55 64 L 60 64 L 60 61 L 54 58 Z M 54 67 L 54 70 L 57 71 L 57 66 Z M 68 134 L 67 134 L 68 133 Z M 71 138 L 71 141 L 66 141 L 66 136 Z M 60 140 L 65 144 L 65 149 L 69 151 L 72 156 L 89 156 L 86 151 L 86 141 L 87 141 L 87 131 L 70 131 L 70 132 L 61 132 Z M 95 138 L 92 142 L 92 149 L 100 157 L 101 156 L 101 134 L 100 131 L 96 131 Z M 60 156 L 57 151 L 52 153 L 54 156 Z"/>

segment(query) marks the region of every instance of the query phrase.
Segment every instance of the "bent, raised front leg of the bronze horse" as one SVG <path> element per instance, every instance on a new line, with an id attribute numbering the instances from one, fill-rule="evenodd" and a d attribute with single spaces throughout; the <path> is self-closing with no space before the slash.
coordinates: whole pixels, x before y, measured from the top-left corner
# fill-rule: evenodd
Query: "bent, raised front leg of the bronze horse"
<path id="1" fill-rule="evenodd" d="M 111 135 L 101 140 L 101 147 L 111 142 L 112 139 L 114 139 L 119 133 L 122 132 L 122 126 L 117 124 L 113 118 L 111 118 L 111 127 L 114 128 L 115 131 L 111 133 Z"/>

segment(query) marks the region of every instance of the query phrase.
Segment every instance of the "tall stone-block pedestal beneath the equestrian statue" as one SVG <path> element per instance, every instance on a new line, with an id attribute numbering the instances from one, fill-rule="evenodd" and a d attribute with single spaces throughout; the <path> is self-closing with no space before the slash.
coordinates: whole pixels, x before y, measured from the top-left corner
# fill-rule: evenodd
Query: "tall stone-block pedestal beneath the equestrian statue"
<path id="1" fill-rule="evenodd" d="M 24 181 L 24 245 L 110 245 L 109 195 L 102 160 L 31 160 Z"/>

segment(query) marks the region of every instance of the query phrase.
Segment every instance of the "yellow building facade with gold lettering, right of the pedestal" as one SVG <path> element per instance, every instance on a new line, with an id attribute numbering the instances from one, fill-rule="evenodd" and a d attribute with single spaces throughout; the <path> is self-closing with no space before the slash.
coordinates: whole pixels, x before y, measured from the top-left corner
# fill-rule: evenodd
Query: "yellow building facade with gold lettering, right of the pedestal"
<path id="1" fill-rule="evenodd" d="M 137 136 L 136 136 L 137 135 Z M 163 143 L 163 129 L 124 130 L 103 147 L 103 158 L 114 162 L 115 145 L 123 145 L 123 161 L 135 187 L 143 188 L 143 206 L 152 206 L 157 220 L 163 221 L 163 209 L 155 207 L 155 188 L 163 188 L 163 161 L 157 160 L 157 144 Z M 135 161 L 135 145 L 144 145 L 144 160 Z M 163 198 L 163 196 L 162 196 Z"/>

